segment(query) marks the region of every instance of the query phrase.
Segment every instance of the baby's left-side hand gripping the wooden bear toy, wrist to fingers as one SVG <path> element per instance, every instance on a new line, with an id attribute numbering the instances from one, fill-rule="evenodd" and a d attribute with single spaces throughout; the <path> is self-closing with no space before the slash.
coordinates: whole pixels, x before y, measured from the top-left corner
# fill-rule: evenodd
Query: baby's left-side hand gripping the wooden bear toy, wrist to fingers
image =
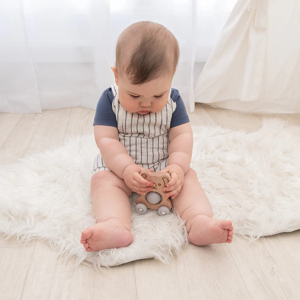
<path id="1" fill-rule="evenodd" d="M 152 190 L 153 182 L 144 179 L 140 176 L 141 171 L 147 170 L 137 164 L 131 164 L 123 171 L 123 178 L 125 184 L 131 188 L 131 190 L 138 194 L 146 195 L 147 192 Z M 149 170 L 152 171 L 153 170 Z"/>

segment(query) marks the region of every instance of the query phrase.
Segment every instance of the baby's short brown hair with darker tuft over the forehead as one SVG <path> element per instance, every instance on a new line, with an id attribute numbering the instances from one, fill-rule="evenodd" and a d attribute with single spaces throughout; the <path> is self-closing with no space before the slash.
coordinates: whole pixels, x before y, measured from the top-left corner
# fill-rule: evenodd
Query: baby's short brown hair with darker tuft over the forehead
<path id="1" fill-rule="evenodd" d="M 142 84 L 164 75 L 174 75 L 179 60 L 179 44 L 161 24 L 142 21 L 128 26 L 116 45 L 118 76 L 129 76 L 132 84 Z"/>

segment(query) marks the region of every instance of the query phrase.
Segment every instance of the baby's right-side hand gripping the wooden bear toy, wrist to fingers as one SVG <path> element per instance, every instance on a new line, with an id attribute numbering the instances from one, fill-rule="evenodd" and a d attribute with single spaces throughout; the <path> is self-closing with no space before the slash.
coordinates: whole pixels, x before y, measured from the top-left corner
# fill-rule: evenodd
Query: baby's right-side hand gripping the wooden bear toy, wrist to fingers
<path id="1" fill-rule="evenodd" d="M 161 172 L 167 172 L 171 176 L 171 180 L 167 183 L 167 187 L 164 187 L 164 192 L 167 193 L 167 197 L 170 197 L 174 199 L 180 192 L 183 181 L 184 181 L 184 172 L 182 170 L 182 167 L 179 167 L 176 164 L 172 164 L 164 168 L 164 170 L 159 171 Z"/>

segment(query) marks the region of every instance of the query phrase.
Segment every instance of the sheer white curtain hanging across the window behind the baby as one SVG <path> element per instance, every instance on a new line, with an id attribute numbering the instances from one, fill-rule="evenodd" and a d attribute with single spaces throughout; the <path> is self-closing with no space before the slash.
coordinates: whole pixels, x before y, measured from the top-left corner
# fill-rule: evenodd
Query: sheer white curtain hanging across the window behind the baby
<path id="1" fill-rule="evenodd" d="M 95 109 L 114 82 L 118 35 L 141 20 L 163 24 L 179 40 L 173 87 L 193 110 L 194 62 L 206 61 L 234 2 L 0 1 L 0 112 Z"/>

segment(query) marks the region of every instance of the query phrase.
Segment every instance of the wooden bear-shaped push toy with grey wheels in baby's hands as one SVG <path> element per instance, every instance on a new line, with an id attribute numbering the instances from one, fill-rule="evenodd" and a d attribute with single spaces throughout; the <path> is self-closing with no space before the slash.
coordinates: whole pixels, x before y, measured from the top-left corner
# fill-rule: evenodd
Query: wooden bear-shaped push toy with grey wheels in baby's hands
<path id="1" fill-rule="evenodd" d="M 171 180 L 168 173 L 152 173 L 148 170 L 143 170 L 141 176 L 148 181 L 153 182 L 152 191 L 141 194 L 137 198 L 135 209 L 137 213 L 144 214 L 147 208 L 156 209 L 158 214 L 164 216 L 170 213 L 172 208 L 170 198 L 167 198 L 167 192 L 164 192 L 164 187 Z"/>

